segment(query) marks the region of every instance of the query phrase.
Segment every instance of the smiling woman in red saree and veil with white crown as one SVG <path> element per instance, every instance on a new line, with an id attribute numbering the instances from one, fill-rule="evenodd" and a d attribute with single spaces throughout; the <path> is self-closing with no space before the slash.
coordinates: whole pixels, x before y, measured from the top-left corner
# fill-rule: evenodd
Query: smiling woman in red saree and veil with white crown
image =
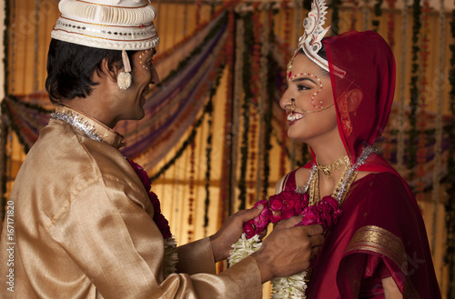
<path id="1" fill-rule="evenodd" d="M 393 54 L 372 31 L 322 39 L 329 30 L 322 27 L 326 9 L 323 0 L 313 3 L 280 100 L 288 137 L 309 145 L 313 159 L 278 181 L 276 193 L 303 194 L 308 207 L 336 199 L 341 210 L 329 222 L 323 212 L 309 220 L 299 213 L 301 224 L 326 221 L 327 230 L 306 275 L 308 288 L 296 294 L 440 298 L 419 206 L 409 185 L 372 147 L 393 102 Z M 274 196 L 268 206 L 276 215 Z M 282 280 L 281 289 L 289 281 Z"/>

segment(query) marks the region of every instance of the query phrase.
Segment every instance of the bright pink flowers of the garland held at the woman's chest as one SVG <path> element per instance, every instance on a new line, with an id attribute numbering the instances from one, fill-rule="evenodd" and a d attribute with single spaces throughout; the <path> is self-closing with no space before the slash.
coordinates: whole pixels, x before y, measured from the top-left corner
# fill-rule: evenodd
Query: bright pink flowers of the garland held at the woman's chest
<path id="1" fill-rule="evenodd" d="M 339 202 L 330 195 L 322 198 L 319 204 L 308 206 L 308 194 L 299 194 L 289 189 L 270 196 L 268 200 L 258 201 L 254 207 L 258 204 L 264 205 L 264 210 L 258 217 L 243 225 L 243 231 L 248 239 L 262 232 L 269 223 L 277 224 L 281 220 L 297 215 L 303 215 L 302 221 L 297 225 L 320 224 L 326 231 L 332 224 L 339 222 L 342 214 Z"/>

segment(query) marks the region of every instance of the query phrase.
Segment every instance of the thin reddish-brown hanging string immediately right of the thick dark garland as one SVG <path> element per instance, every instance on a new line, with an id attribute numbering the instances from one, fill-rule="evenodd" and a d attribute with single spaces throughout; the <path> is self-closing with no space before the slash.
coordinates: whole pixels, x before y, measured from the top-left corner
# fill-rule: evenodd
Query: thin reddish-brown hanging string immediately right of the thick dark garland
<path id="1" fill-rule="evenodd" d="M 419 129 L 419 141 L 417 145 L 417 176 L 419 180 L 417 182 L 416 188 L 416 199 L 418 202 L 423 201 L 423 191 L 425 188 L 425 183 L 423 182 L 423 177 L 426 174 L 426 162 L 427 162 L 427 135 L 425 133 L 427 125 L 427 65 L 428 65 L 428 55 L 429 55 L 429 13 L 430 13 L 430 2 L 428 0 L 423 1 L 422 9 L 422 35 L 421 35 L 421 51 L 420 51 L 420 91 L 419 91 L 419 120 L 417 123 Z"/>

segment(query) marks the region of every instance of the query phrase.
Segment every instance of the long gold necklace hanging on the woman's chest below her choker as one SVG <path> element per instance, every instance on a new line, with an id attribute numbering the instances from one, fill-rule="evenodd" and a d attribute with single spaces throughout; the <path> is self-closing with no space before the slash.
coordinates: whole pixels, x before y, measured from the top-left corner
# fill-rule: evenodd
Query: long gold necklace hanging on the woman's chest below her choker
<path id="1" fill-rule="evenodd" d="M 344 159 L 344 157 L 348 157 L 347 155 L 344 155 L 342 156 L 339 160 L 337 160 L 337 162 L 335 162 L 334 164 L 337 164 L 339 163 L 339 161 L 341 159 Z M 349 157 L 348 157 L 349 159 Z M 330 165 L 334 165 L 334 164 L 330 164 Z M 344 164 L 344 163 L 343 163 Z M 339 170 L 339 167 L 341 166 L 342 164 L 340 164 L 338 166 L 338 170 Z M 341 186 L 343 184 L 345 184 L 345 181 L 347 179 L 347 176 L 349 174 L 349 164 L 345 164 L 345 168 L 343 170 L 343 173 L 341 174 L 341 176 L 339 177 L 339 181 L 338 183 L 336 184 L 335 186 L 335 189 L 333 190 L 331 196 L 333 198 L 337 198 L 337 195 L 339 194 L 339 192 L 341 191 Z M 339 198 L 339 204 L 342 204 L 343 201 L 344 201 L 344 198 L 346 197 L 346 194 L 347 194 L 347 191 L 349 190 L 349 186 L 350 184 L 352 184 L 352 182 L 355 181 L 356 177 L 357 177 L 357 174 L 359 174 L 359 172 L 356 170 L 352 173 L 352 175 L 350 175 L 349 177 L 349 181 L 346 182 L 346 189 L 345 189 L 345 192 L 343 194 L 341 194 L 341 197 Z M 331 176 L 331 174 L 330 174 Z M 318 166 L 318 169 L 316 170 L 316 173 L 314 174 L 314 177 L 313 177 L 313 180 L 311 181 L 310 185 L 309 185 L 309 205 L 314 205 L 314 204 L 318 204 L 320 201 L 320 198 L 319 198 L 319 166 Z"/>

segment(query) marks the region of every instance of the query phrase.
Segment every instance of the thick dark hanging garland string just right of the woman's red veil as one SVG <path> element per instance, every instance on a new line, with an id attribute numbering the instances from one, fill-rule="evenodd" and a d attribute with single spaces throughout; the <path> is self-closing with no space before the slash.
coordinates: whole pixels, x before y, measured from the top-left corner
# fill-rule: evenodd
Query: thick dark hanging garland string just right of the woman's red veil
<path id="1" fill-rule="evenodd" d="M 412 65 L 411 65 L 411 77 L 410 77 L 410 139 L 408 143 L 408 160 L 407 166 L 410 169 L 409 179 L 412 179 L 415 175 L 414 167 L 416 166 L 417 160 L 417 137 L 419 131 L 417 130 L 417 108 L 419 106 L 419 37 L 420 37 L 420 15 L 421 7 L 420 0 L 414 0 L 412 5 Z"/>

